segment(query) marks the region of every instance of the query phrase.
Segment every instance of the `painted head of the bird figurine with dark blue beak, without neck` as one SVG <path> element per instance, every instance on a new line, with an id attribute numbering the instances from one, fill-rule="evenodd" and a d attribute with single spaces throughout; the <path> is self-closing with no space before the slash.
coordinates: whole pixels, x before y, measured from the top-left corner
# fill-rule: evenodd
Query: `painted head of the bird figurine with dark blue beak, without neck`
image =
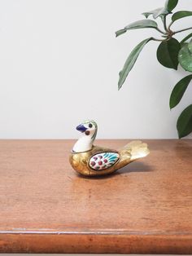
<path id="1" fill-rule="evenodd" d="M 76 130 L 81 131 L 86 136 L 91 136 L 91 139 L 95 139 L 97 135 L 98 126 L 93 120 L 83 121 L 79 126 L 76 126 Z"/>

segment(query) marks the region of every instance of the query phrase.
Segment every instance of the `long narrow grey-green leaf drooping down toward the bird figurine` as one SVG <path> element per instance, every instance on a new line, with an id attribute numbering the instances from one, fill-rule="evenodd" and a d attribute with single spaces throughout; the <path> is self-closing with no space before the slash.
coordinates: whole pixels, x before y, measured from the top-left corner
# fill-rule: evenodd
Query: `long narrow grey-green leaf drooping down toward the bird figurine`
<path id="1" fill-rule="evenodd" d="M 133 51 L 131 51 L 131 53 L 129 54 L 129 57 L 124 64 L 124 68 L 120 71 L 120 78 L 118 82 L 119 90 L 121 86 L 124 84 L 124 81 L 128 76 L 129 72 L 133 68 L 133 65 L 135 64 L 138 55 L 142 51 L 142 48 L 146 45 L 147 42 L 150 42 L 151 40 L 153 40 L 153 38 L 146 38 L 145 40 L 140 42 L 136 47 L 134 47 Z"/>

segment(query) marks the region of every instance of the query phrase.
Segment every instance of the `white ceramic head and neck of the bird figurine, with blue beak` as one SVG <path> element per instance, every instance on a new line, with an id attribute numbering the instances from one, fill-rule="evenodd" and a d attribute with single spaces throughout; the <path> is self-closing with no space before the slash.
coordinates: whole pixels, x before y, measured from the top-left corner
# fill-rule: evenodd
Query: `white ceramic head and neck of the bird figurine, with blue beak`
<path id="1" fill-rule="evenodd" d="M 81 131 L 81 138 L 77 140 L 73 152 L 86 152 L 89 151 L 94 143 L 94 139 L 97 135 L 98 126 L 93 120 L 83 121 L 79 126 L 76 126 L 76 130 Z"/>

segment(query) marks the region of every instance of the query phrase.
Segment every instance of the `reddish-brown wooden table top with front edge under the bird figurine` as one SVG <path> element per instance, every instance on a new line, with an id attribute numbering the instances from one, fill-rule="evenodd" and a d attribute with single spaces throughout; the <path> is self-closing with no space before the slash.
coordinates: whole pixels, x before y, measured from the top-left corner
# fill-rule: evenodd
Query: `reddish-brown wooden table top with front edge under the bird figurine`
<path id="1" fill-rule="evenodd" d="M 192 140 L 146 142 L 148 157 L 88 179 L 74 140 L 0 140 L 0 252 L 192 254 Z"/>

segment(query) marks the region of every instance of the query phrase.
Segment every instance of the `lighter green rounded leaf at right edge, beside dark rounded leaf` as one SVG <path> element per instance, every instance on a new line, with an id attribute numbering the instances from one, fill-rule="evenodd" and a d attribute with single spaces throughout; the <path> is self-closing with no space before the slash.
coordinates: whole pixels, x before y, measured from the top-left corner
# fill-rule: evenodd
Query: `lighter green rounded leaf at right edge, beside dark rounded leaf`
<path id="1" fill-rule="evenodd" d="M 188 43 L 183 44 L 178 55 L 179 63 L 181 67 L 186 71 L 192 72 L 192 53 L 188 47 Z"/>

